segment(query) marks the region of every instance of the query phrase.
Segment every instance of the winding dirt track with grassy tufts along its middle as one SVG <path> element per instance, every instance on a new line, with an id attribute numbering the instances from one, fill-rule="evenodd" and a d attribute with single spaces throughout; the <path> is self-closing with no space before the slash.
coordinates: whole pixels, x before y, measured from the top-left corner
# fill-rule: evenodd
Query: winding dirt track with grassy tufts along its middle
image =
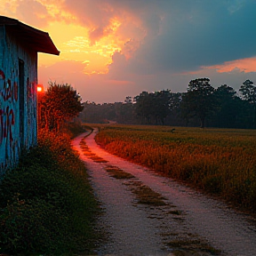
<path id="1" fill-rule="evenodd" d="M 208 196 L 108 154 L 97 131 L 72 141 L 102 205 L 98 255 L 256 255 L 255 220 Z"/>

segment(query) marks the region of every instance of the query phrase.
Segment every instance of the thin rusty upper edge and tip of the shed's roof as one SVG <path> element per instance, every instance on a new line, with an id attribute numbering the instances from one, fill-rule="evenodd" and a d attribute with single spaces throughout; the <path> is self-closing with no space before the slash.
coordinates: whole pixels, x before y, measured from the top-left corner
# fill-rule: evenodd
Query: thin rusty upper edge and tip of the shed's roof
<path id="1" fill-rule="evenodd" d="M 60 51 L 56 48 L 55 44 L 53 44 L 52 42 L 52 38 L 51 36 L 49 36 L 49 34 L 47 32 L 44 32 L 42 30 L 39 30 L 37 28 L 33 28 L 31 26 L 28 26 L 27 24 L 24 24 L 22 22 L 20 22 L 20 20 L 15 20 L 12 18 L 8 18 L 5 16 L 0 16 L 0 25 L 4 25 L 4 26 L 17 26 L 18 28 L 21 28 L 25 31 L 29 31 L 31 33 L 31 35 L 35 35 L 35 36 L 43 36 L 45 43 L 49 46 L 49 49 L 45 49 L 44 50 L 37 50 L 37 52 L 44 52 L 44 53 L 50 53 L 53 55 L 60 55 Z M 40 48 L 40 47 L 38 47 Z"/>

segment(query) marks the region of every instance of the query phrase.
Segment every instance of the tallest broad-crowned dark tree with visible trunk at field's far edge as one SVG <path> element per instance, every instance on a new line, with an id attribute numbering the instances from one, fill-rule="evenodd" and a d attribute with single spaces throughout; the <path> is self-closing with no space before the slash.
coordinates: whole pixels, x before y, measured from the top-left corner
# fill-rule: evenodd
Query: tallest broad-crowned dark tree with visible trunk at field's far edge
<path id="1" fill-rule="evenodd" d="M 184 93 L 181 101 L 181 115 L 189 119 L 197 116 L 201 128 L 205 127 L 205 119 L 216 110 L 218 104 L 214 97 L 214 88 L 209 84 L 209 78 L 191 80 L 188 92 Z"/>

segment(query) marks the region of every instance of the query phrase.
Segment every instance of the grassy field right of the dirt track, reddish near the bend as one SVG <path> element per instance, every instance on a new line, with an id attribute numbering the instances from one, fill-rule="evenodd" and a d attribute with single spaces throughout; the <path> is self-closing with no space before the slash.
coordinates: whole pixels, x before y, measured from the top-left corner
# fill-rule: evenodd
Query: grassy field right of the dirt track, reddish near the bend
<path id="1" fill-rule="evenodd" d="M 148 166 L 256 212 L 256 131 L 105 125 L 96 141 Z"/>

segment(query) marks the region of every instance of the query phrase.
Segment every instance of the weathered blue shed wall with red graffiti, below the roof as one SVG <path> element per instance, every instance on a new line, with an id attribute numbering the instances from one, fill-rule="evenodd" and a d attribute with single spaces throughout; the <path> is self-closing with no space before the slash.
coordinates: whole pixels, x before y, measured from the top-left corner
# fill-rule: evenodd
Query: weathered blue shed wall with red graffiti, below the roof
<path id="1" fill-rule="evenodd" d="M 0 26 L 0 176 L 36 145 L 36 84 L 37 52 Z"/>

